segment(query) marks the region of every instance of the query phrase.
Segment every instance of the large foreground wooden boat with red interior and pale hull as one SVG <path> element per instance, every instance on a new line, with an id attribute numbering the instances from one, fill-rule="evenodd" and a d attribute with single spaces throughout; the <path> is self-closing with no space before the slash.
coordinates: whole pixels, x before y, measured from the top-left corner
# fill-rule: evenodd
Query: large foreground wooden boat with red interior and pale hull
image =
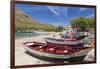
<path id="1" fill-rule="evenodd" d="M 92 49 L 91 47 L 60 46 L 39 42 L 26 42 L 23 47 L 36 56 L 54 59 L 69 59 L 84 56 Z"/>

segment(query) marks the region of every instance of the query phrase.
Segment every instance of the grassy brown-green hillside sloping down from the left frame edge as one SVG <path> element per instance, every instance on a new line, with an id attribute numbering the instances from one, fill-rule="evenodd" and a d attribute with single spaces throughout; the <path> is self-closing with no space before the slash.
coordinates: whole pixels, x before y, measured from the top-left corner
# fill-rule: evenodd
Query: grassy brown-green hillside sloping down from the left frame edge
<path id="1" fill-rule="evenodd" d="M 58 27 L 39 23 L 38 21 L 33 20 L 31 16 L 27 15 L 20 9 L 15 9 L 15 30 L 16 32 L 26 32 L 31 30 L 58 31 Z"/>

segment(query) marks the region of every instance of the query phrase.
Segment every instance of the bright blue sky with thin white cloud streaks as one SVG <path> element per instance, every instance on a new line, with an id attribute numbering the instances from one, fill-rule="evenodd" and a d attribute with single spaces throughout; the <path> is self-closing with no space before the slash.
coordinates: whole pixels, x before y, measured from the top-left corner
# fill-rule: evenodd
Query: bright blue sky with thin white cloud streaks
<path id="1" fill-rule="evenodd" d="M 16 4 L 22 10 L 40 23 L 55 26 L 69 26 L 72 19 L 78 17 L 94 17 L 94 8 Z"/>

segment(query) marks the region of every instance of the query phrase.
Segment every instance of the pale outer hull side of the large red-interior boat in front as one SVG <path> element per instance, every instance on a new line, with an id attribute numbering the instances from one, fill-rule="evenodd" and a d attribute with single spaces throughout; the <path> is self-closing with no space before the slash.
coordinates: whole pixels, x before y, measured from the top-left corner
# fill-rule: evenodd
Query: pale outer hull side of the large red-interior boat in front
<path id="1" fill-rule="evenodd" d="M 79 56 L 84 56 L 87 55 L 87 53 L 92 49 L 92 48 L 86 48 L 81 51 L 72 53 L 72 54 L 66 54 L 66 55 L 61 55 L 61 54 L 52 54 L 52 53 L 47 53 L 47 52 L 41 52 L 37 50 L 31 49 L 29 46 L 23 46 L 28 52 L 32 53 L 33 55 L 39 56 L 39 57 L 47 57 L 47 58 L 54 58 L 54 59 L 69 59 L 73 57 L 79 57 Z"/>

